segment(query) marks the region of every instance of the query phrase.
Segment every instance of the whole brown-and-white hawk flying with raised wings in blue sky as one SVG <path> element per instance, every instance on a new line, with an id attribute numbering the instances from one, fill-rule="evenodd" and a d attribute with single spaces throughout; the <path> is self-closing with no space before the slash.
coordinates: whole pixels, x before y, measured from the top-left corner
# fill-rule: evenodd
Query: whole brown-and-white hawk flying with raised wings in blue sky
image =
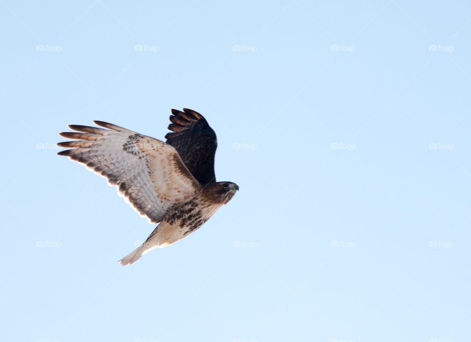
<path id="1" fill-rule="evenodd" d="M 74 139 L 58 154 L 86 165 L 107 178 L 119 195 L 149 222 L 158 224 L 147 240 L 119 262 L 131 265 L 154 248 L 166 247 L 201 227 L 239 187 L 216 182 L 216 134 L 206 119 L 191 109 L 172 109 L 166 142 L 108 122 L 100 127 L 69 125 Z"/>

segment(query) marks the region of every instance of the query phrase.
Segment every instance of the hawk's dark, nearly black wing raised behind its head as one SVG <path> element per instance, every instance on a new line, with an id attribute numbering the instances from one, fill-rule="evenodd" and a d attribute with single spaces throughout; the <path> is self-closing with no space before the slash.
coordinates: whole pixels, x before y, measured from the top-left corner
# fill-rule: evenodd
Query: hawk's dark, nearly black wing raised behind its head
<path id="1" fill-rule="evenodd" d="M 165 139 L 175 147 L 191 174 L 202 184 L 216 181 L 214 175 L 214 154 L 216 133 L 203 116 L 194 110 L 183 108 L 183 112 L 172 109 Z"/>

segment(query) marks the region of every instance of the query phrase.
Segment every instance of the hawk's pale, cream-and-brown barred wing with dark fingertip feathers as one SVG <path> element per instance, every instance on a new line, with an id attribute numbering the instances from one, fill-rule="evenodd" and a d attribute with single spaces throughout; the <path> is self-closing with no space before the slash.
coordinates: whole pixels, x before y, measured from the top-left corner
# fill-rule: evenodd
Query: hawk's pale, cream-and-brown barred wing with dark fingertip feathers
<path id="1" fill-rule="evenodd" d="M 58 154 L 107 178 L 108 184 L 117 186 L 119 194 L 150 222 L 160 222 L 175 204 L 201 190 L 174 147 L 111 123 L 95 123 L 109 129 L 69 125 L 80 133 L 59 133 L 77 140 L 57 144 L 72 147 Z"/>

